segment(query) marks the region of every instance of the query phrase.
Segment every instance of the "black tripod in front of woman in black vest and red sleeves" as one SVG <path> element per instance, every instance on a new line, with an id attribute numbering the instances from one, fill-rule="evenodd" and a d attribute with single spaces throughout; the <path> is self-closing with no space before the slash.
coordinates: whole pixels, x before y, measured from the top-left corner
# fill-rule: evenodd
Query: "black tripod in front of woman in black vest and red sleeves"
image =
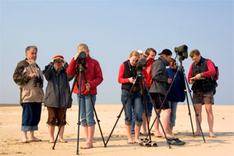
<path id="1" fill-rule="evenodd" d="M 136 82 L 139 82 L 141 91 L 143 91 L 142 80 L 143 80 L 143 82 L 144 82 L 144 84 L 145 84 L 145 87 L 146 87 L 146 91 L 147 91 L 147 93 L 148 93 L 148 96 L 150 97 L 150 101 L 151 101 L 151 103 L 153 103 L 153 100 L 152 100 L 152 98 L 151 98 L 151 96 L 150 96 L 150 94 L 149 94 L 149 90 L 148 90 L 148 88 L 147 88 L 147 85 L 146 85 L 146 82 L 145 82 L 145 79 L 144 79 L 144 76 L 143 76 L 142 72 L 141 72 L 141 71 L 140 71 L 140 72 L 137 72 L 137 76 L 136 76 L 136 78 L 135 78 L 135 81 L 134 81 L 134 83 L 133 83 L 133 85 L 132 85 L 132 87 L 131 87 L 131 89 L 130 89 L 130 91 L 129 91 L 129 94 L 128 94 L 128 96 L 127 96 L 127 98 L 126 98 L 126 100 L 125 100 L 125 102 L 124 102 L 124 104 L 123 104 L 123 107 L 122 107 L 122 109 L 121 109 L 119 115 L 117 116 L 117 120 L 116 120 L 116 122 L 115 122 L 115 124 L 114 124 L 114 126 L 113 126 L 113 128 L 112 128 L 112 130 L 111 130 L 111 133 L 110 133 L 110 135 L 109 135 L 109 137 L 108 137 L 108 139 L 107 139 L 107 141 L 106 141 L 106 145 L 107 145 L 107 143 L 109 142 L 112 133 L 114 132 L 114 129 L 115 129 L 115 127 L 116 127 L 116 125 L 117 125 L 117 123 L 118 123 L 120 117 L 121 117 L 121 114 L 122 114 L 122 112 L 123 112 L 125 106 L 127 105 L 127 102 L 128 102 L 128 100 L 129 100 L 129 98 L 130 98 L 132 92 L 133 92 L 133 88 L 135 87 Z M 144 94 L 143 94 L 143 99 L 145 99 Z M 145 101 L 145 100 L 143 100 L 143 101 Z M 147 114 L 146 104 L 144 103 L 144 105 L 145 105 L 145 111 L 146 111 L 146 114 Z M 157 111 L 156 111 L 156 115 L 158 116 Z M 148 123 L 148 135 L 150 136 L 149 121 L 148 121 L 148 117 L 147 117 L 147 116 L 146 116 L 146 119 L 147 119 L 146 121 L 147 121 L 147 123 Z M 160 123 L 160 125 L 161 125 L 161 128 L 163 129 L 164 134 L 165 134 L 164 128 L 163 128 L 162 123 L 161 123 L 160 120 L 159 120 L 159 123 Z M 165 134 L 165 137 L 166 137 L 166 134 Z M 166 137 L 166 139 L 167 139 L 167 137 Z M 150 142 L 151 142 L 151 137 L 150 137 Z M 167 141 L 167 143 L 168 143 L 168 141 Z M 170 148 L 170 144 L 169 144 L 169 143 L 168 143 L 168 146 L 169 146 L 169 148 Z"/>

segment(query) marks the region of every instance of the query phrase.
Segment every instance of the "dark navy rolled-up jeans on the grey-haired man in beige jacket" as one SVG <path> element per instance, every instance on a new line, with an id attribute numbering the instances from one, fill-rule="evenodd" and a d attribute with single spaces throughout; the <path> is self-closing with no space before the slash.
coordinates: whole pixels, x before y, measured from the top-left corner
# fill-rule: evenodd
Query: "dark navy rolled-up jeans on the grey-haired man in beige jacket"
<path id="1" fill-rule="evenodd" d="M 38 124 L 41 119 L 41 103 L 22 103 L 22 107 L 23 112 L 21 131 L 38 130 Z"/>

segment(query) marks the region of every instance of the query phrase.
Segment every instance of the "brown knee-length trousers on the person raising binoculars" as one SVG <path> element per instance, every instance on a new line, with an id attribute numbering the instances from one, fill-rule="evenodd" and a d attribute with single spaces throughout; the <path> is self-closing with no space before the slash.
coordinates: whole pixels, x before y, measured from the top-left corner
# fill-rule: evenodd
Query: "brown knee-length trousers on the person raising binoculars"
<path id="1" fill-rule="evenodd" d="M 47 107 L 47 110 L 48 110 L 47 124 L 50 126 L 60 126 L 65 108 Z M 66 123 L 67 122 L 66 122 L 66 114 L 65 114 L 62 126 L 66 125 Z"/>

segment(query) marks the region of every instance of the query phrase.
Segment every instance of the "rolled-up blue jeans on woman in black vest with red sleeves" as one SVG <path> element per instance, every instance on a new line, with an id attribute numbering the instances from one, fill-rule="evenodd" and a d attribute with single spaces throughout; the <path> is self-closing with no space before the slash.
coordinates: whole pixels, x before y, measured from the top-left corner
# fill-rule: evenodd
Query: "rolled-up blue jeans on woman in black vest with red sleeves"
<path id="1" fill-rule="evenodd" d="M 141 126 L 143 121 L 142 120 L 143 105 L 141 101 L 140 92 L 132 92 L 128 101 L 126 102 L 128 95 L 129 91 L 122 89 L 121 101 L 123 105 L 126 103 L 124 107 L 125 124 L 129 126 L 132 125 L 132 108 L 133 108 L 136 125 Z"/>

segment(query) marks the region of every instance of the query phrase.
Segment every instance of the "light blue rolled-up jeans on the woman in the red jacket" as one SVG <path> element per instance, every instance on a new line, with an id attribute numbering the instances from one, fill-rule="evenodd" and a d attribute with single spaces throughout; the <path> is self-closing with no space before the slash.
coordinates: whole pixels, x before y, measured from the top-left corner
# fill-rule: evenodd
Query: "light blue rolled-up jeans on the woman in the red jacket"
<path id="1" fill-rule="evenodd" d="M 79 103 L 79 95 L 78 103 Z M 96 95 L 92 95 L 92 101 L 95 104 Z M 81 125 L 82 126 L 93 126 L 96 124 L 94 120 L 94 113 L 93 113 L 93 105 L 90 100 L 89 95 L 82 95 L 80 104 L 80 117 L 81 117 Z"/>

